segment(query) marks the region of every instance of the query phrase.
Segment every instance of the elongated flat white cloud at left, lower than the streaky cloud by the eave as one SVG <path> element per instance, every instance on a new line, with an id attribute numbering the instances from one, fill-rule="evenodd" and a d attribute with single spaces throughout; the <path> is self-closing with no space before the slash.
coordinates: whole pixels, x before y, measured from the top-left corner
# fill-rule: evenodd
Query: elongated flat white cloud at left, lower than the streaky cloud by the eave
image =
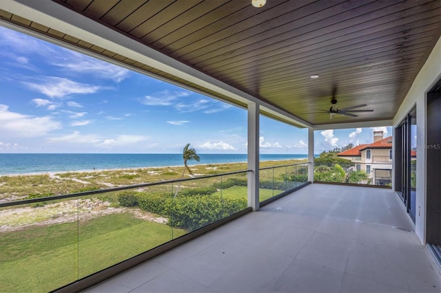
<path id="1" fill-rule="evenodd" d="M 64 98 L 72 94 L 94 94 L 99 91 L 101 87 L 96 85 L 87 85 L 85 83 L 76 83 L 67 78 L 60 78 L 54 76 L 45 76 L 39 78 L 36 82 L 23 82 L 24 85 L 30 89 L 34 89 L 41 94 L 50 98 Z"/>

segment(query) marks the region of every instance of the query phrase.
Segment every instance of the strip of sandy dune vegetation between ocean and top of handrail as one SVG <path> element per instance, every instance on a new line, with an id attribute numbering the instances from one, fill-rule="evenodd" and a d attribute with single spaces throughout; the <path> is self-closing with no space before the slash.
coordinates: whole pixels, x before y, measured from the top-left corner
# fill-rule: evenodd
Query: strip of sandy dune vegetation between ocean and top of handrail
<path id="1" fill-rule="evenodd" d="M 306 160 L 263 161 L 260 168 L 281 166 L 306 162 Z M 88 190 L 127 186 L 164 180 L 181 179 L 180 166 L 77 171 L 66 173 L 45 173 L 30 175 L 0 176 L 0 202 L 45 197 L 47 195 L 63 195 Z M 247 163 L 198 164 L 189 165 L 195 177 L 217 175 L 247 169 Z M 246 175 L 243 175 L 245 178 Z M 216 179 L 209 180 L 212 183 Z M 37 196 L 40 195 L 40 196 Z"/>

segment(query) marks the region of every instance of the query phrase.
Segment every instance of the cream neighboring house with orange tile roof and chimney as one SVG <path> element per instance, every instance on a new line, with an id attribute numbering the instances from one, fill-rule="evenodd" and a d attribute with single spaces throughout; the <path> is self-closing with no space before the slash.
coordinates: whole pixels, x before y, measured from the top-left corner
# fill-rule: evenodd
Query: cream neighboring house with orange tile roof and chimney
<path id="1" fill-rule="evenodd" d="M 359 144 L 338 153 L 351 160 L 357 171 L 366 171 L 366 184 L 387 185 L 392 182 L 392 136 L 383 138 L 383 131 L 373 131 L 373 143 Z"/>

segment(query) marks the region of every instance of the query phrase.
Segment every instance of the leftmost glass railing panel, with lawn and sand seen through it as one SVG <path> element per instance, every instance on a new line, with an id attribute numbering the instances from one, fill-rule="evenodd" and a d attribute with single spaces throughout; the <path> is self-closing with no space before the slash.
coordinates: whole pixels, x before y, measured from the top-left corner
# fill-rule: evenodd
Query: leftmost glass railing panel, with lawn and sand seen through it
<path id="1" fill-rule="evenodd" d="M 0 208 L 0 292 L 48 292 L 78 279 L 78 200 Z"/>

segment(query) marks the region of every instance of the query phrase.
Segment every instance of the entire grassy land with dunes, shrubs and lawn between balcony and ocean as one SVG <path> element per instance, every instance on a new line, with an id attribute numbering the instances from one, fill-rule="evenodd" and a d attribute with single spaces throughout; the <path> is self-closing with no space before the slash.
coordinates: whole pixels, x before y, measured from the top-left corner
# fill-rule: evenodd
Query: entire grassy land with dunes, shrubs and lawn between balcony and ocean
<path id="1" fill-rule="evenodd" d="M 261 162 L 261 167 L 298 161 Z M 182 168 L 182 166 L 181 166 Z M 188 166 L 195 180 L 68 199 L 53 195 L 179 179 L 180 167 L 0 177 L 0 292 L 47 292 L 154 248 L 247 206 L 246 163 Z M 292 187 L 297 169 L 260 174 L 260 201 Z M 297 177 L 296 177 L 297 178 Z M 298 178 L 297 178 L 298 179 Z M 300 184 L 300 182 L 297 182 Z"/>

